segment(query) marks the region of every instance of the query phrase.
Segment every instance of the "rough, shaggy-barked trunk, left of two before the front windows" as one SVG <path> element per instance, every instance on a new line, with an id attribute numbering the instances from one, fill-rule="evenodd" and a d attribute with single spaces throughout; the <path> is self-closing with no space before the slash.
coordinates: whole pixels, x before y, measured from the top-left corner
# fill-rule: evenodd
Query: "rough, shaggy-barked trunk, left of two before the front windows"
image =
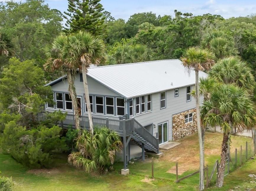
<path id="1" fill-rule="evenodd" d="M 81 135 L 81 128 L 79 124 L 79 111 L 78 111 L 78 103 L 77 103 L 77 97 L 76 97 L 76 87 L 74 84 L 74 76 L 73 74 L 69 71 L 67 74 L 68 82 L 69 82 L 69 94 L 71 96 L 72 100 L 72 105 L 74 108 L 74 115 L 75 115 L 75 127 L 78 130 L 78 135 Z"/>

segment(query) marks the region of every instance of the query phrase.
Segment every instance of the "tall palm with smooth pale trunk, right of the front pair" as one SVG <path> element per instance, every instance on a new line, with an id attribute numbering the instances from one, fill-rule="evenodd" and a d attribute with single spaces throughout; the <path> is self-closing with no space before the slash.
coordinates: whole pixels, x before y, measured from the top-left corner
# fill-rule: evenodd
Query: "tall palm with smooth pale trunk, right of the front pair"
<path id="1" fill-rule="evenodd" d="M 102 39 L 95 38 L 88 32 L 79 31 L 69 35 L 68 38 L 67 48 L 71 50 L 72 56 L 69 57 L 67 63 L 76 62 L 82 70 L 90 131 L 93 135 L 92 112 L 86 74 L 91 64 L 99 65 L 106 61 L 106 48 Z"/>

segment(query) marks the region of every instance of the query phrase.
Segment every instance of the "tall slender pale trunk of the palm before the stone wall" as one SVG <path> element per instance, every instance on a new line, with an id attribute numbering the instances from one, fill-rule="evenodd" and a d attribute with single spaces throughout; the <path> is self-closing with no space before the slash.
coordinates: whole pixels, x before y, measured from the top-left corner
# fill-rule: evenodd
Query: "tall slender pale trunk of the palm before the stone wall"
<path id="1" fill-rule="evenodd" d="M 198 128 L 198 140 L 199 140 L 199 190 L 204 190 L 204 148 L 203 148 L 203 134 L 201 129 L 201 118 L 200 118 L 200 95 L 199 95 L 199 77 L 198 71 L 195 71 L 195 105 L 196 105 L 196 119 Z"/>

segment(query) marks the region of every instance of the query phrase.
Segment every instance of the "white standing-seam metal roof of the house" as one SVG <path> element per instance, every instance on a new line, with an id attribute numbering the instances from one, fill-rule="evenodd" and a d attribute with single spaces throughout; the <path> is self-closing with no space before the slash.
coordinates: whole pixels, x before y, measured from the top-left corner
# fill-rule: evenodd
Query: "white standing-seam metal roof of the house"
<path id="1" fill-rule="evenodd" d="M 178 59 L 90 67 L 87 75 L 125 98 L 195 84 L 195 71 L 187 71 Z M 199 77 L 207 74 L 200 71 Z"/>

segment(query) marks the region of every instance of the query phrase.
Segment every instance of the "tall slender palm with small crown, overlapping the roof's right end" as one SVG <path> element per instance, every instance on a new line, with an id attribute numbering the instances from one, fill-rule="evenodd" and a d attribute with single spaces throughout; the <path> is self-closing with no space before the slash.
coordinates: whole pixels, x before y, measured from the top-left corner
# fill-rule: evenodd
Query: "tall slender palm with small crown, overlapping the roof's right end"
<path id="1" fill-rule="evenodd" d="M 204 49 L 198 47 L 191 47 L 186 50 L 181 61 L 183 66 L 188 70 L 193 69 L 195 71 L 195 104 L 196 104 L 196 118 L 198 127 L 198 139 L 199 139 L 199 150 L 200 150 L 200 179 L 199 189 L 204 189 L 204 146 L 203 146 L 203 133 L 201 129 L 200 119 L 200 93 L 199 93 L 199 71 L 208 70 L 213 65 L 213 55 Z"/>

